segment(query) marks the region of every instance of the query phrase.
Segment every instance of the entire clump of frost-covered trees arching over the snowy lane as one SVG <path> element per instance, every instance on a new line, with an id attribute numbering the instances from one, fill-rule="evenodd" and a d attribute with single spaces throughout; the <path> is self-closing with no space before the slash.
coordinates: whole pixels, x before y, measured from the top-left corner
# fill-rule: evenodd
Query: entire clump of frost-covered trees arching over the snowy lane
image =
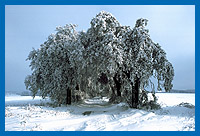
<path id="1" fill-rule="evenodd" d="M 158 90 L 170 91 L 174 69 L 165 51 L 154 43 L 146 19 L 135 27 L 122 26 L 108 12 L 100 12 L 86 32 L 76 25 L 57 27 L 39 49 L 33 49 L 32 74 L 25 79 L 28 90 L 50 97 L 58 104 L 71 104 L 94 96 L 126 101 L 130 107 L 147 101 L 145 88 L 158 81 Z M 155 96 L 155 95 L 154 95 Z"/>

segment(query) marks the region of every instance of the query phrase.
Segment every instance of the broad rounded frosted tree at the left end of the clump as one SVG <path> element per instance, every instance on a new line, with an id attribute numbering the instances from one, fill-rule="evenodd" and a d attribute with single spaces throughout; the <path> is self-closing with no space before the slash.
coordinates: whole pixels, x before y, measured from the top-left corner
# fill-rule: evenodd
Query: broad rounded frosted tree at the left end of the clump
<path id="1" fill-rule="evenodd" d="M 25 79 L 26 88 L 49 96 L 58 104 L 71 103 L 71 91 L 76 83 L 76 66 L 71 65 L 71 50 L 77 43 L 75 25 L 57 27 L 57 33 L 51 34 L 39 49 L 30 52 L 27 60 L 31 61 L 33 71 Z"/>

